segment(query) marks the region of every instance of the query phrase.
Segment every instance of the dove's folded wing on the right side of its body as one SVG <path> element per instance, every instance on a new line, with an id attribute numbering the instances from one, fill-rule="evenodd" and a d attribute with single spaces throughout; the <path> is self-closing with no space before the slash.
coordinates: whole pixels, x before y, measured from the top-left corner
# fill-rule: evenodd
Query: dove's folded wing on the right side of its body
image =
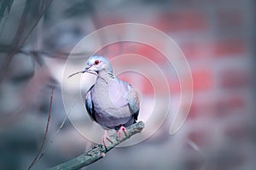
<path id="1" fill-rule="evenodd" d="M 137 121 L 137 116 L 140 110 L 140 98 L 137 89 L 132 88 L 130 84 L 128 84 L 128 93 L 126 99 L 134 119 Z"/>

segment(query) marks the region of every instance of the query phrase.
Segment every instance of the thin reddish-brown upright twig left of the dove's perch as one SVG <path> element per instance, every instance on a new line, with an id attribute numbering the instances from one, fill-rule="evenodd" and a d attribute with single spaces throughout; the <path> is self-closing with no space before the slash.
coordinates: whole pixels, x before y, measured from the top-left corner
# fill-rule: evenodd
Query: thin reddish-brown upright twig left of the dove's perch
<path id="1" fill-rule="evenodd" d="M 49 120 L 50 120 L 50 116 L 51 116 L 51 108 L 52 108 L 52 100 L 53 100 L 54 89 L 55 89 L 55 87 L 51 88 L 51 95 L 50 95 L 50 100 L 49 100 L 49 115 L 48 115 L 48 120 L 47 120 L 47 123 L 46 123 L 45 132 L 44 132 L 44 139 L 43 139 L 43 142 L 40 146 L 40 149 L 38 150 L 37 156 L 34 158 L 34 160 L 30 164 L 30 166 L 27 168 L 27 170 L 31 169 L 31 167 L 35 164 L 35 162 L 38 160 L 38 156 L 40 156 L 40 154 L 41 154 L 41 152 L 44 148 L 44 143 L 45 143 L 46 136 L 47 136 L 48 129 L 49 129 Z"/>

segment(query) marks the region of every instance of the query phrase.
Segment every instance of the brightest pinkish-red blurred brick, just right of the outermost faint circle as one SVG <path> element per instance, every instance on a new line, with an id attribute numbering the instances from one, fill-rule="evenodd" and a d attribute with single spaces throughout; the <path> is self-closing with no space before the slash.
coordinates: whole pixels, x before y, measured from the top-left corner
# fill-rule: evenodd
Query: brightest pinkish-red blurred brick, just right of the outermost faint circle
<path id="1" fill-rule="evenodd" d="M 212 71 L 209 69 L 201 69 L 192 71 L 193 88 L 195 91 L 210 90 L 213 86 Z"/>

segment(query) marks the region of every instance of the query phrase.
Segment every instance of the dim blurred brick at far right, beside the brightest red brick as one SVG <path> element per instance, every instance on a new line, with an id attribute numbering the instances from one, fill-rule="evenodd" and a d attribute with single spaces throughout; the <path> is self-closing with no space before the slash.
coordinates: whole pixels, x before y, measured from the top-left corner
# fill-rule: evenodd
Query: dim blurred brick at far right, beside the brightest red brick
<path id="1" fill-rule="evenodd" d="M 244 70 L 226 70 L 221 73 L 220 77 L 221 88 L 247 88 L 250 85 L 250 75 Z"/>

